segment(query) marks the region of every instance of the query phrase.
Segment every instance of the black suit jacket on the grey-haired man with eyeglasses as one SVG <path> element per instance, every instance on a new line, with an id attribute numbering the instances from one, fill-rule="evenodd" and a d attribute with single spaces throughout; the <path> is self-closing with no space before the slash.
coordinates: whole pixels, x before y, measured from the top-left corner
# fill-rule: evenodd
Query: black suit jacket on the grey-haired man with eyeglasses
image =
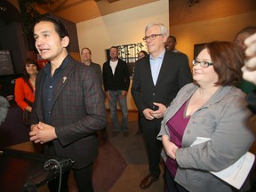
<path id="1" fill-rule="evenodd" d="M 191 82 L 188 57 L 185 54 L 165 52 L 155 85 L 148 55 L 135 63 L 132 97 L 141 114 L 145 108 L 156 110 L 153 102 L 163 103 L 168 107 L 180 88 Z"/>

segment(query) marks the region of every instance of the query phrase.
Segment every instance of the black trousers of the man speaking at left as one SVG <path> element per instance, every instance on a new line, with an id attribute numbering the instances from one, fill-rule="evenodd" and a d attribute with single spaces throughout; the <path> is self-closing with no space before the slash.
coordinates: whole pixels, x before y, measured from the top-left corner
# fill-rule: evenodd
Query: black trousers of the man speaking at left
<path id="1" fill-rule="evenodd" d="M 84 169 L 73 170 L 74 177 L 76 180 L 76 187 L 79 192 L 93 192 L 92 187 L 92 168 L 93 164 L 89 164 Z M 68 192 L 68 177 L 70 172 L 65 172 L 62 174 L 61 180 L 61 192 Z M 59 189 L 60 178 L 56 178 L 48 183 L 48 188 L 51 192 L 57 192 Z"/>

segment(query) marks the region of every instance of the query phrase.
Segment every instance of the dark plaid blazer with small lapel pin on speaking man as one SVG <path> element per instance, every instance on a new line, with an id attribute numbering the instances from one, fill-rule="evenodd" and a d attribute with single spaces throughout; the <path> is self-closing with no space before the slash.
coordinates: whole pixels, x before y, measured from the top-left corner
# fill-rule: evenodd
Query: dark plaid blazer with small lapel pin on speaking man
<path id="1" fill-rule="evenodd" d="M 32 124 L 44 122 L 41 97 L 44 76 L 44 69 L 36 76 Z M 97 78 L 92 68 L 86 68 L 68 55 L 63 78 L 53 93 L 51 125 L 55 127 L 58 139 L 45 144 L 45 153 L 74 159 L 75 169 L 91 164 L 97 156 L 95 132 L 107 124 L 104 95 Z"/>

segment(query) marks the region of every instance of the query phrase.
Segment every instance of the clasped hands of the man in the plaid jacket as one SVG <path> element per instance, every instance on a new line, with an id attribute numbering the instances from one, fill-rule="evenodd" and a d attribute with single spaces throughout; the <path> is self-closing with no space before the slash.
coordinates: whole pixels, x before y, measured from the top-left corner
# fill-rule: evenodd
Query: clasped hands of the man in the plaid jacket
<path id="1" fill-rule="evenodd" d="M 33 124 L 31 126 L 31 132 L 29 132 L 29 135 L 31 141 L 41 144 L 57 138 L 55 128 L 42 122 L 39 122 L 39 124 Z"/>

